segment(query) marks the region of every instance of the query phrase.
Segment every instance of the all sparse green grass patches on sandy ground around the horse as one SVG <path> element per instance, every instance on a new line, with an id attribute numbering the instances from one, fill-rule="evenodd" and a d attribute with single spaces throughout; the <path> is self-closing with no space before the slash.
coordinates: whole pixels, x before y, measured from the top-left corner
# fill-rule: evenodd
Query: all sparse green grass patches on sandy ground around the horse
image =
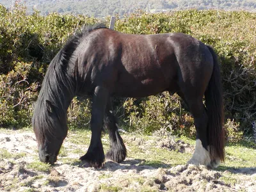
<path id="1" fill-rule="evenodd" d="M 28 127 L 25 131 L 28 131 Z M 1 132 L 10 133 L 12 131 L 8 129 L 0 129 Z M 15 131 L 16 132 L 16 131 Z M 17 130 L 17 132 L 24 132 L 24 130 Z M 86 148 L 90 145 L 90 130 L 70 130 L 68 132 L 67 139 L 64 141 L 69 141 L 75 145 L 85 145 L 84 148 L 68 148 L 61 147 L 59 159 L 63 163 L 67 164 L 77 164 L 79 160 L 77 158 L 68 157 L 70 153 L 79 154 L 79 156 L 83 156 L 86 153 Z M 144 145 L 147 141 L 154 139 L 152 136 L 143 136 L 141 134 L 124 134 L 122 136 L 124 138 L 125 146 L 127 147 L 127 157 L 133 159 L 140 159 L 142 165 L 153 166 L 153 167 L 163 167 L 168 168 L 170 166 L 176 166 L 178 164 L 186 164 L 186 162 L 191 158 L 191 153 L 180 153 L 174 150 L 168 150 L 167 148 L 159 148 L 154 145 L 148 145 L 147 148 L 141 148 L 140 143 Z M 131 138 L 134 138 L 135 141 L 138 139 L 140 143 L 136 143 L 132 141 Z M 190 138 L 186 138 L 182 136 L 180 138 L 176 138 L 175 140 L 183 140 L 185 143 L 189 143 L 189 145 L 195 145 L 195 140 Z M 109 148 L 109 140 L 108 134 L 102 134 L 102 144 L 104 146 L 104 152 L 108 151 Z M 248 141 L 241 141 L 239 143 L 230 143 L 225 147 L 226 158 L 225 163 L 221 163 L 221 166 L 217 169 L 220 171 L 225 171 L 230 168 L 250 168 L 256 167 L 256 144 Z M 1 148 L 0 149 L 0 159 L 19 159 L 21 157 L 26 156 L 26 153 L 12 153 L 8 152 L 8 150 Z M 32 168 L 35 170 L 47 172 L 49 171 L 49 165 L 40 163 L 37 161 L 28 164 L 28 168 Z"/>

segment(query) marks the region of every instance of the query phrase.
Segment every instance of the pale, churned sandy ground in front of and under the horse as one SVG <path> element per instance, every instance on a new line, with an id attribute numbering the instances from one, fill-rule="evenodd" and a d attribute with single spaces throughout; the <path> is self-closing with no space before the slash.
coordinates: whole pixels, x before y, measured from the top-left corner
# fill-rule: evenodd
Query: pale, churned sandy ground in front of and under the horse
<path id="1" fill-rule="evenodd" d="M 140 158 L 89 168 L 76 160 L 76 151 L 88 146 L 74 144 L 71 138 L 64 143 L 65 158 L 44 167 L 38 162 L 33 132 L 1 133 L 0 191 L 256 191 L 256 168 L 217 171 L 190 164 L 161 168 L 148 166 Z M 148 143 L 154 145 L 154 141 L 140 145 Z M 68 159 L 72 163 L 65 163 Z"/>

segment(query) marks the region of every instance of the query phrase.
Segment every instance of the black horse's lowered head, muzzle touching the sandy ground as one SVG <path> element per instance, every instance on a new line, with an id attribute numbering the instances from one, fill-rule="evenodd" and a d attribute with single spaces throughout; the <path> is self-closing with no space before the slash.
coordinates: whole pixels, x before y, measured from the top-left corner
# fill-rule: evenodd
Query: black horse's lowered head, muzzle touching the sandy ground
<path id="1" fill-rule="evenodd" d="M 67 116 L 60 115 L 50 100 L 36 104 L 32 119 L 40 161 L 54 164 L 67 136 Z"/>

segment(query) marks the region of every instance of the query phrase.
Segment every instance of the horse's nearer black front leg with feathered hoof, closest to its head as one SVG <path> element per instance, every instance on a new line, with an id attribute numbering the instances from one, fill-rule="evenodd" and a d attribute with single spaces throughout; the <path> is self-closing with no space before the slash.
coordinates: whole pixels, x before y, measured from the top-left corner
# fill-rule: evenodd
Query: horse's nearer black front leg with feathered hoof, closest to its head
<path id="1" fill-rule="evenodd" d="M 92 138 L 87 153 L 80 157 L 81 161 L 87 161 L 90 166 L 95 168 L 101 168 L 105 159 L 100 137 L 107 102 L 108 90 L 102 86 L 97 86 L 92 100 L 92 117 L 90 121 Z"/>

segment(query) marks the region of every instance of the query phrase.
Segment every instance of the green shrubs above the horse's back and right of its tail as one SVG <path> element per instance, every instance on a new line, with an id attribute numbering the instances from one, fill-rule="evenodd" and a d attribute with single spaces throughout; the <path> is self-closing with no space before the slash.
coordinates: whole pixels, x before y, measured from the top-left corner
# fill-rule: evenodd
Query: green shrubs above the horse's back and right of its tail
<path id="1" fill-rule="evenodd" d="M 234 118 L 246 133 L 252 133 L 256 118 L 255 27 L 255 13 L 218 10 L 139 12 L 116 22 L 116 29 L 124 33 L 182 32 L 212 45 L 221 63 L 225 116 Z"/>

